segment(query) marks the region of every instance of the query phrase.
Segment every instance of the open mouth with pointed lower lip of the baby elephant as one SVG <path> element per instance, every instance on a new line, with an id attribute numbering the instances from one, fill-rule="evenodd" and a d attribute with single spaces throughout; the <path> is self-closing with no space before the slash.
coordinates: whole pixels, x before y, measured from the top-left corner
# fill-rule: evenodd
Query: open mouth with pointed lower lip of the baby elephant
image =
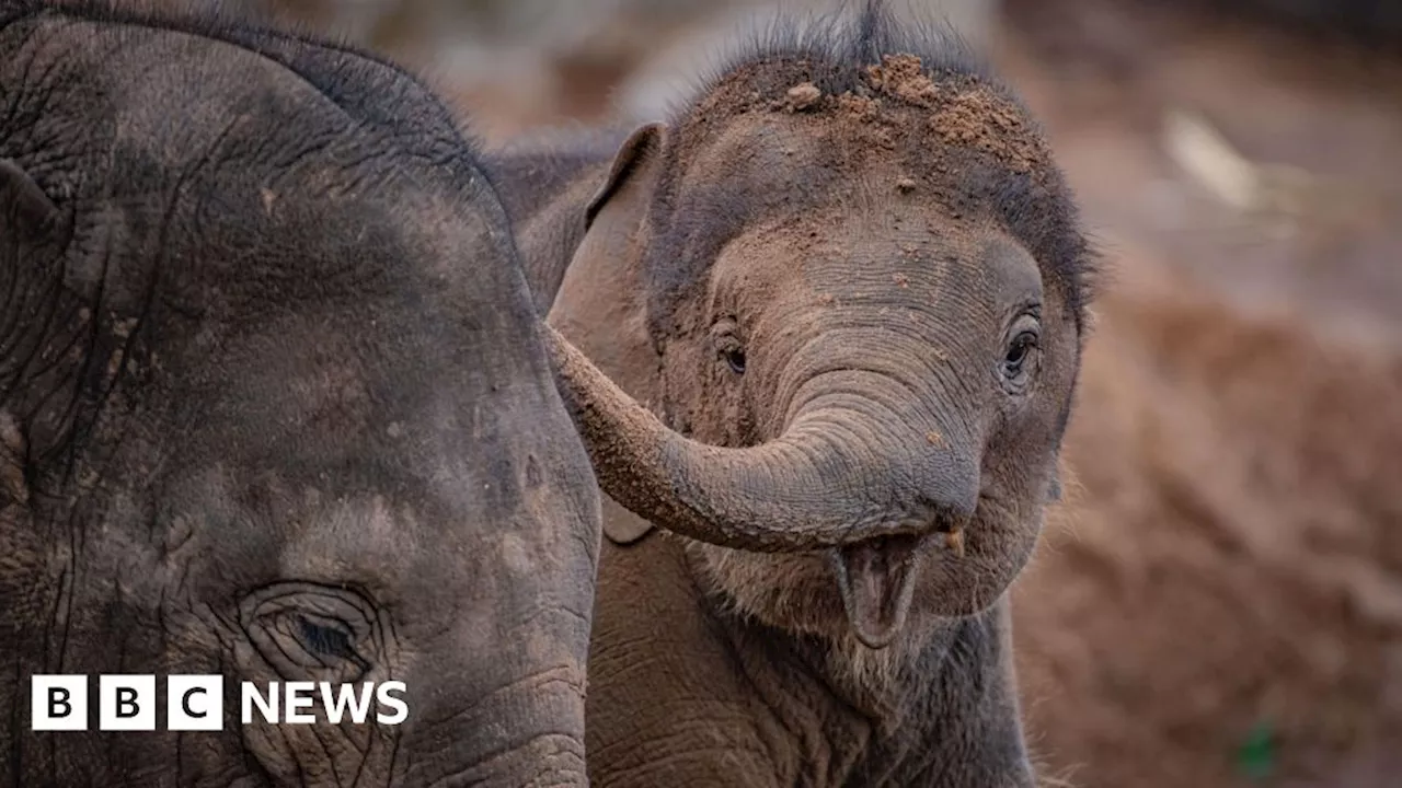
<path id="1" fill-rule="evenodd" d="M 833 551 L 833 569 L 857 639 L 885 648 L 900 632 L 920 575 L 923 538 L 890 537 Z"/>

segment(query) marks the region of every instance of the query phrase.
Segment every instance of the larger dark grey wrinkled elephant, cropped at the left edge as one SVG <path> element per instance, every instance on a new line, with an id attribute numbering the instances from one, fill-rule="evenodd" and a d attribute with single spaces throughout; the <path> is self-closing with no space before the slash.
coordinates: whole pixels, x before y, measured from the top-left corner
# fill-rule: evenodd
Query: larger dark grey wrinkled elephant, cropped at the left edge
<path id="1" fill-rule="evenodd" d="M 0 4 L 0 784 L 582 785 L 599 540 L 505 212 L 404 73 Z M 29 677 L 94 674 L 88 732 Z M 154 673 L 157 731 L 97 731 Z M 167 732 L 222 673 L 224 729 Z M 240 681 L 404 681 L 400 726 Z"/>

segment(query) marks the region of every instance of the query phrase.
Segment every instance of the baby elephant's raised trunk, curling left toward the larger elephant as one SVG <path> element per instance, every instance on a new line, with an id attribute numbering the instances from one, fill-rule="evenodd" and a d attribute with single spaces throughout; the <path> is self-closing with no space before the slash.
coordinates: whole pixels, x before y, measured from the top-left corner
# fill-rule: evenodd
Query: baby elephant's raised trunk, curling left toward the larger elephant
<path id="1" fill-rule="evenodd" d="M 869 463 L 819 429 L 796 425 L 751 449 L 698 443 L 663 425 L 548 325 L 545 342 L 600 487 L 641 517 L 700 541 L 764 552 L 931 527 L 924 506 L 873 498 L 890 491 L 889 480 L 864 478 Z"/>

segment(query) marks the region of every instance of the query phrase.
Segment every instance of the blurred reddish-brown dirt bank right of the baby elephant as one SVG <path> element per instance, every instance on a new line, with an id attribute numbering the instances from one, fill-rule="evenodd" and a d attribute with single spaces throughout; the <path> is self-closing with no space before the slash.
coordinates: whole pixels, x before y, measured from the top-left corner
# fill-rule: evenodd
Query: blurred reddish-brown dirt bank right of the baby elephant
<path id="1" fill-rule="evenodd" d="M 1101 318 L 1015 590 L 1033 749 L 1087 788 L 1396 785 L 1402 353 L 1185 287 Z"/>

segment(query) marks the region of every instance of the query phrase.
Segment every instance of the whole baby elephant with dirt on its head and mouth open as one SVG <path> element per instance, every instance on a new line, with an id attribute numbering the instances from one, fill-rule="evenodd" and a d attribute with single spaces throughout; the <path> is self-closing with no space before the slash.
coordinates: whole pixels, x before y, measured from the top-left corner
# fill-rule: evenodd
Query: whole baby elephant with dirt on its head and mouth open
<path id="1" fill-rule="evenodd" d="M 875 6 L 617 156 L 489 158 L 621 505 L 599 785 L 1033 784 L 1004 592 L 1056 494 L 1092 255 L 1016 101 Z"/>

